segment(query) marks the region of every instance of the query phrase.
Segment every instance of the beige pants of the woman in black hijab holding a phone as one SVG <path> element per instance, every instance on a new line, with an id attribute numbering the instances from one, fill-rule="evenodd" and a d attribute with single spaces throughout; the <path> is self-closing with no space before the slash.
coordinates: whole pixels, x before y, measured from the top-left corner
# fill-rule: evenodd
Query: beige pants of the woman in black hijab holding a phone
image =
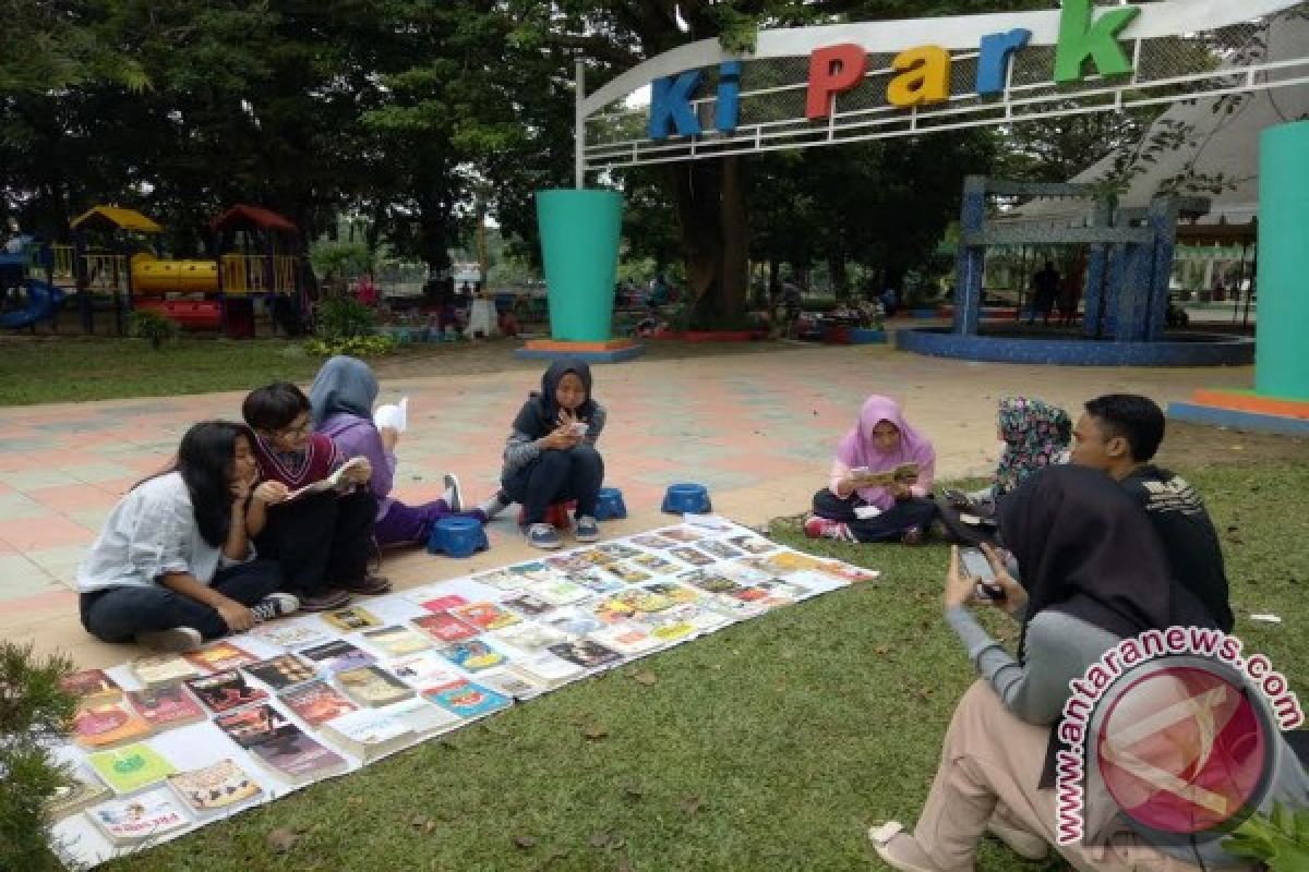
<path id="1" fill-rule="evenodd" d="M 914 830 L 937 868 L 973 869 L 978 842 L 992 816 L 1055 843 L 1055 791 L 1037 788 L 1049 741 L 1049 727 L 1012 715 L 986 681 L 969 688 L 954 709 L 941 765 Z M 1199 871 L 1145 845 L 1130 830 L 1114 833 L 1106 845 L 1056 848 L 1088 872 Z"/>

